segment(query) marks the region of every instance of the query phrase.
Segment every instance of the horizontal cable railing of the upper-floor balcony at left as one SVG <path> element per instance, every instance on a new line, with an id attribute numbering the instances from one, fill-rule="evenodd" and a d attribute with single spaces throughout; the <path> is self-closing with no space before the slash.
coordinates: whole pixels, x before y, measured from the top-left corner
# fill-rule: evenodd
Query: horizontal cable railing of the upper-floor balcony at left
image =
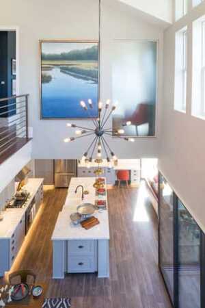
<path id="1" fill-rule="evenodd" d="M 0 99 L 0 163 L 29 140 L 29 94 Z"/>

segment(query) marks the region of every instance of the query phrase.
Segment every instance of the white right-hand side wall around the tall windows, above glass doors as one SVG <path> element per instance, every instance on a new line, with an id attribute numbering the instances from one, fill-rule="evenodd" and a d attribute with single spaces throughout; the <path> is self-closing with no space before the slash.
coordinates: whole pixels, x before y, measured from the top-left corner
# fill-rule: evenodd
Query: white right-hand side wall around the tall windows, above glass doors
<path id="1" fill-rule="evenodd" d="M 205 231 L 205 120 L 191 116 L 192 22 L 205 14 L 205 3 L 165 31 L 164 104 L 159 168 Z M 187 114 L 174 111 L 175 32 L 188 27 Z"/>

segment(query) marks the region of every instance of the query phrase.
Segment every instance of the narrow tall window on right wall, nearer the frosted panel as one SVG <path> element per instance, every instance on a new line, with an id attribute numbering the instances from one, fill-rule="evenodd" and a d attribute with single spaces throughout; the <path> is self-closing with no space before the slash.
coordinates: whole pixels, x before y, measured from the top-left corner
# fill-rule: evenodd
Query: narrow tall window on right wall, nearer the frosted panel
<path id="1" fill-rule="evenodd" d="M 187 102 L 187 28 L 176 33 L 174 109 L 186 112 Z"/>

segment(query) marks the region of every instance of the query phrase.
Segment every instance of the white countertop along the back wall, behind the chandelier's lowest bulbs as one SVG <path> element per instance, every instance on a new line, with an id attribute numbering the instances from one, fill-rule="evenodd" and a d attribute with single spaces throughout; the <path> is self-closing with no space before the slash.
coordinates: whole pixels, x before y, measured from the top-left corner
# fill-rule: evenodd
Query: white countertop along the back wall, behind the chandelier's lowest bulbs
<path id="1" fill-rule="evenodd" d="M 97 167 L 98 164 L 95 162 L 90 163 L 90 167 Z M 78 167 L 86 167 L 85 162 L 78 164 Z M 108 168 L 107 159 L 102 159 L 102 164 L 100 167 Z M 140 159 L 118 159 L 118 165 L 113 166 L 114 170 L 139 170 L 140 169 Z"/>

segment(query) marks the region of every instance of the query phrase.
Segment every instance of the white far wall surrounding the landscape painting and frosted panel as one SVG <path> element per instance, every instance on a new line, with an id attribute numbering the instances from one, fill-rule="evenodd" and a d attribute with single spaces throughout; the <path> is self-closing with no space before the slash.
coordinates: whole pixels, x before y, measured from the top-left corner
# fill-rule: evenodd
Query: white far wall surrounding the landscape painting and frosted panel
<path id="1" fill-rule="evenodd" d="M 102 1 L 101 99 L 111 98 L 111 64 L 114 39 L 159 40 L 159 84 L 157 110 L 160 122 L 162 103 L 163 31 L 134 14 L 128 5 Z M 33 157 L 81 157 L 87 140 L 64 144 L 69 135 L 65 120 L 40 120 L 39 46 L 40 39 L 98 39 L 96 0 L 2 0 L 0 27 L 16 25 L 20 45 L 20 92 L 29 93 L 29 121 L 33 126 Z M 128 7 L 128 8 L 126 8 Z M 78 122 L 79 124 L 81 121 Z M 83 121 L 87 125 L 87 121 Z M 90 125 L 90 124 L 89 124 Z M 159 125 L 157 131 L 159 131 Z M 156 157 L 158 138 L 141 139 L 135 144 L 113 141 L 122 158 Z"/>

